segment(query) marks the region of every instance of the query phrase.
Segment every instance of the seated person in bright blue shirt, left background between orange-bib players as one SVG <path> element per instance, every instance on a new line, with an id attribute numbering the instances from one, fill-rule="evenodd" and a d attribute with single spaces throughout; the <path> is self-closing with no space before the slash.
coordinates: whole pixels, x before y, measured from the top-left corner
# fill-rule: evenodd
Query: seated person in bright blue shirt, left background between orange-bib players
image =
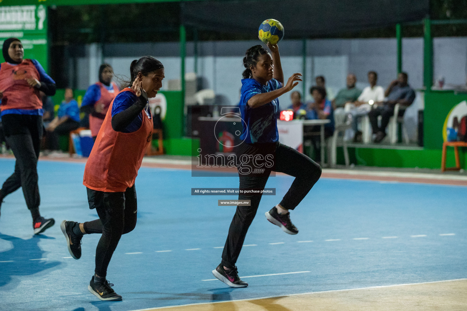
<path id="1" fill-rule="evenodd" d="M 55 117 L 46 128 L 50 150 L 59 150 L 58 136 L 69 135 L 79 127 L 78 103 L 73 99 L 73 90 L 65 89 L 65 99 Z"/>

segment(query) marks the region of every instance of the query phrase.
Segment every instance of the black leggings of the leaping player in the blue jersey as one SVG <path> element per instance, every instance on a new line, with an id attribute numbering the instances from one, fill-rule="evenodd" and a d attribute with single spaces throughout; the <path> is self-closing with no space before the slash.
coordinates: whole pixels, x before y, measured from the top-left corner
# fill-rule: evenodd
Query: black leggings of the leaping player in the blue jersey
<path id="1" fill-rule="evenodd" d="M 247 145 L 247 148 L 249 148 L 248 144 L 244 145 Z M 241 153 L 257 153 L 251 151 L 252 148 L 258 148 L 257 144 L 249 146 L 251 146 L 250 150 L 242 150 Z M 275 167 L 273 167 L 273 171 L 286 173 L 295 177 L 289 191 L 287 191 L 280 202 L 282 207 L 294 209 L 318 181 L 321 176 L 321 167 L 303 153 L 280 143 L 275 145 L 273 152 L 275 152 Z M 270 170 L 266 171 L 261 176 L 240 175 L 240 188 L 263 189 L 266 186 L 270 172 Z M 227 268 L 233 268 L 237 262 L 243 241 L 253 218 L 255 218 L 261 197 L 261 194 L 240 194 L 238 196 L 239 200 L 251 200 L 251 206 L 237 206 L 237 211 L 233 216 L 224 251 L 222 252 L 222 265 Z"/>

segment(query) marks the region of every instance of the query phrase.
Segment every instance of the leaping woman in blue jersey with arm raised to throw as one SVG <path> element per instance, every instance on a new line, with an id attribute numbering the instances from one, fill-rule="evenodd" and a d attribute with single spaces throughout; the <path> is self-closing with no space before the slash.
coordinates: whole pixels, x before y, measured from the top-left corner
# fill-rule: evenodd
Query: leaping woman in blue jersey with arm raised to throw
<path id="1" fill-rule="evenodd" d="M 321 167 L 303 153 L 279 143 L 277 97 L 292 90 L 301 74 L 293 74 L 284 85 L 281 60 L 277 45 L 268 43 L 269 54 L 261 45 L 247 50 L 243 58 L 240 111 L 243 143 L 237 151 L 240 188 L 263 189 L 271 171 L 294 176 L 289 191 L 282 201 L 266 212 L 266 218 L 290 235 L 298 233 L 290 221 L 293 210 L 321 176 Z M 255 171 L 256 169 L 256 171 Z M 256 173 L 261 172 L 261 173 Z M 243 241 L 258 209 L 261 194 L 240 194 L 239 200 L 250 200 L 250 206 L 238 206 L 230 224 L 222 262 L 212 274 L 230 287 L 246 287 L 241 281 L 235 263 Z"/>

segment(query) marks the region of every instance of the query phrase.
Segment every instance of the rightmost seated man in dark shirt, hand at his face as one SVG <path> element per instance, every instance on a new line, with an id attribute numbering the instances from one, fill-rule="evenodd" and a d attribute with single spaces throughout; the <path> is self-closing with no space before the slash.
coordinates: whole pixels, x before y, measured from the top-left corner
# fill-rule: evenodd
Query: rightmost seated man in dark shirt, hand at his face
<path id="1" fill-rule="evenodd" d="M 403 107 L 408 107 L 415 99 L 415 91 L 407 83 L 408 77 L 405 72 L 401 72 L 389 84 L 388 89 L 384 93 L 386 97 L 382 103 L 377 103 L 378 107 L 368 112 L 373 133 L 376 134 L 375 143 L 380 143 L 386 137 L 386 127 L 389 124 L 389 118 L 394 116 L 394 107 L 400 104 Z M 404 111 L 399 111 L 403 115 Z M 381 127 L 378 126 L 378 116 L 381 116 Z"/>

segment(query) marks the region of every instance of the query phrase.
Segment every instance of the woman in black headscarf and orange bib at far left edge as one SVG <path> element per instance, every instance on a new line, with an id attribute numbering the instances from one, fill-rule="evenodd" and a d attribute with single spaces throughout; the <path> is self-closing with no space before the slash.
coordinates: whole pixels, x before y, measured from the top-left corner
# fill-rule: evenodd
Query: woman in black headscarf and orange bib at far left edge
<path id="1" fill-rule="evenodd" d="M 0 205 L 8 194 L 22 187 L 26 205 L 33 219 L 34 234 L 54 225 L 53 218 L 39 213 L 37 159 L 42 140 L 42 101 L 39 92 L 55 95 L 55 82 L 35 59 L 24 58 L 24 48 L 17 38 L 3 42 L 5 62 L 0 64 L 0 111 L 3 131 L 13 151 L 14 173 L 0 189 Z"/>

